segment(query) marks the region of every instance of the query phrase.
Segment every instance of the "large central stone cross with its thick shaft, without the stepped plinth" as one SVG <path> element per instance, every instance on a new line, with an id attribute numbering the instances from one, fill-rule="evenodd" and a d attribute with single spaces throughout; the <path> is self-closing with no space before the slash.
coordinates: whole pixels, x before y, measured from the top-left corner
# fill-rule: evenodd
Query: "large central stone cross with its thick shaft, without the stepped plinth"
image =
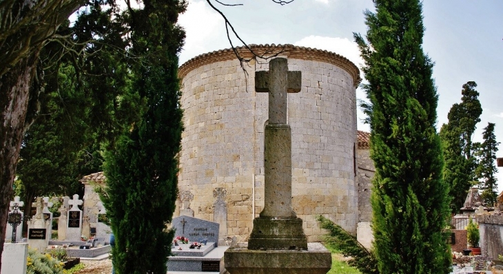
<path id="1" fill-rule="evenodd" d="M 287 92 L 300 92 L 302 75 L 288 71 L 276 58 L 269 72 L 256 72 L 256 92 L 269 92 L 269 123 L 264 140 L 265 205 L 261 217 L 296 217 L 291 207 L 291 130 L 287 125 Z"/>

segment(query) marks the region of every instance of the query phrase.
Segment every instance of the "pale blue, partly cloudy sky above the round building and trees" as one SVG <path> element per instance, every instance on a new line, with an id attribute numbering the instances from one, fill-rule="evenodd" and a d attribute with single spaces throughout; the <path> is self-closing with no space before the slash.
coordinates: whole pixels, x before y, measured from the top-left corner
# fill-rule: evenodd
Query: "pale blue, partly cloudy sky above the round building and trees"
<path id="1" fill-rule="evenodd" d="M 245 43 L 289 43 L 329 50 L 362 67 L 353 32 L 365 36 L 364 11 L 373 11 L 372 0 L 295 0 L 284 6 L 271 0 L 220 0 L 243 6 L 211 1 Z M 495 123 L 497 141 L 503 143 L 503 1 L 424 0 L 423 17 L 423 50 L 435 63 L 438 130 L 448 122 L 452 105 L 460 103 L 462 85 L 475 81 L 483 112 L 473 141 L 482 142 L 482 131 L 490 122 Z M 178 21 L 187 32 L 180 64 L 199 54 L 230 48 L 224 21 L 206 0 L 189 0 L 187 12 Z M 234 43 L 242 45 L 236 39 Z M 360 88 L 356 96 L 365 99 Z M 359 109 L 358 129 L 369 131 L 363 118 Z M 503 157 L 503 145 L 499 149 L 497 156 Z M 497 178 L 502 191 L 503 170 Z"/>

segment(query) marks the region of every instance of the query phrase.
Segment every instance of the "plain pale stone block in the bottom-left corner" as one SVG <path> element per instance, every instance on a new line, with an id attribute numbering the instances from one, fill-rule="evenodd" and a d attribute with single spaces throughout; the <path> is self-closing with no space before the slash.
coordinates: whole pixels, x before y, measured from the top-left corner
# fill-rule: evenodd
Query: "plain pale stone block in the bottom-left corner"
<path id="1" fill-rule="evenodd" d="M 28 244 L 4 244 L 1 273 L 25 274 L 28 258 Z"/>

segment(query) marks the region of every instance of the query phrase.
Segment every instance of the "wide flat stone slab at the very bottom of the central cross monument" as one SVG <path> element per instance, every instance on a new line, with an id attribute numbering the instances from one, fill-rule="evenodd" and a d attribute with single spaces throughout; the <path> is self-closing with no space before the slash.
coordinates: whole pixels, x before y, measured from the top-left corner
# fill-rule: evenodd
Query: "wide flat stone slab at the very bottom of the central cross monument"
<path id="1" fill-rule="evenodd" d="M 307 250 L 250 250 L 236 246 L 224 253 L 225 269 L 231 274 L 326 274 L 332 256 L 318 242 L 307 244 Z"/>

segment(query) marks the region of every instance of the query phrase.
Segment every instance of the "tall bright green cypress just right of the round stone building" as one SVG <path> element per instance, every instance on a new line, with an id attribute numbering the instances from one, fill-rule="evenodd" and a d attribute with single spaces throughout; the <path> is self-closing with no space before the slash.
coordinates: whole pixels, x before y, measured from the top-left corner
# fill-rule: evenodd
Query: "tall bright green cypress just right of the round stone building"
<path id="1" fill-rule="evenodd" d="M 433 63 L 422 50 L 418 0 L 375 0 L 365 12 L 367 41 L 355 34 L 370 103 L 371 158 L 376 166 L 371 204 L 380 273 L 449 273 L 444 228 L 448 187 L 435 129 L 438 94 Z"/>

